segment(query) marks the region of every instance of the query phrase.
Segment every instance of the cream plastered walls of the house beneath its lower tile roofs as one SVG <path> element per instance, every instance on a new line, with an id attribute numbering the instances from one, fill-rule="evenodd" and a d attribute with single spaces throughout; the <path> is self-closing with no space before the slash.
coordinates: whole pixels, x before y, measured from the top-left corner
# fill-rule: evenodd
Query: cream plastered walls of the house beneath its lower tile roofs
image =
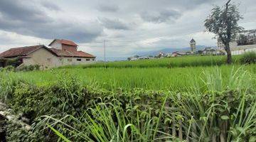
<path id="1" fill-rule="evenodd" d="M 31 58 L 23 58 L 23 66 L 41 65 L 42 68 L 60 67 L 64 65 L 85 65 L 95 63 L 92 58 L 66 58 L 57 57 L 46 48 L 41 48 L 29 55 Z"/>

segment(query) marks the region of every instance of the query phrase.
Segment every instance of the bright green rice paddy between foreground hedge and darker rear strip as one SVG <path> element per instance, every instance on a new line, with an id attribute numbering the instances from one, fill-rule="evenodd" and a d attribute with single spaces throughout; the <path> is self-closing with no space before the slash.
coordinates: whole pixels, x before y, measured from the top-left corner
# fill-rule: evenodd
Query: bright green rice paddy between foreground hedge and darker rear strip
<path id="1" fill-rule="evenodd" d="M 206 75 L 213 74 L 219 69 L 223 80 L 228 77 L 231 70 L 241 68 L 247 72 L 256 74 L 255 65 L 221 65 L 210 67 L 151 67 L 151 68 L 66 68 L 34 72 L 15 72 L 16 77 L 26 80 L 38 86 L 48 85 L 58 78 L 70 75 L 77 77 L 84 85 L 114 90 L 122 89 L 151 89 L 151 90 L 186 90 L 193 84 L 202 85 Z"/>

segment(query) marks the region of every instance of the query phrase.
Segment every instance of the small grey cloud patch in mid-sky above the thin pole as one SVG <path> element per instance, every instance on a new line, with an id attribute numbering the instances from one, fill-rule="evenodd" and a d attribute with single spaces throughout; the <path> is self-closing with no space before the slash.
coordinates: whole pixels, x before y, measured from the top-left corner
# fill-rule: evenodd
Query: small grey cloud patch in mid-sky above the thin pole
<path id="1" fill-rule="evenodd" d="M 102 23 L 105 28 L 114 29 L 114 30 L 131 30 L 132 24 L 124 23 L 119 19 L 110 19 L 110 18 L 99 18 L 100 23 Z"/>

